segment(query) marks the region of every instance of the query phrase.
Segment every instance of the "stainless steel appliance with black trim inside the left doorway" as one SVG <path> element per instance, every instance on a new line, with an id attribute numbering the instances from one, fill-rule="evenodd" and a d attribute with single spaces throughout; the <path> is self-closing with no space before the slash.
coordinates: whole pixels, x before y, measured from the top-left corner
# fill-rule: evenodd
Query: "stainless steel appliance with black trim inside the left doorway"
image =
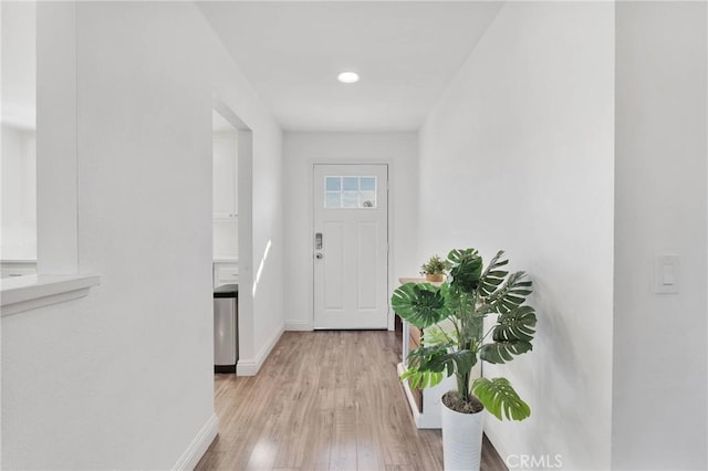
<path id="1" fill-rule="evenodd" d="M 236 373 L 239 359 L 239 285 L 214 290 L 214 373 Z"/>

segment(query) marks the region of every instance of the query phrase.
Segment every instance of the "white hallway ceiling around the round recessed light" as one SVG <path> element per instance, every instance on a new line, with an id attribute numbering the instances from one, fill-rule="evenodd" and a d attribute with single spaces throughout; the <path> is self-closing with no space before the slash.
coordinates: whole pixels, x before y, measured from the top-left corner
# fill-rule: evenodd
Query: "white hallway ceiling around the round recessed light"
<path id="1" fill-rule="evenodd" d="M 283 129 L 416 130 L 502 3 L 197 4 Z"/>

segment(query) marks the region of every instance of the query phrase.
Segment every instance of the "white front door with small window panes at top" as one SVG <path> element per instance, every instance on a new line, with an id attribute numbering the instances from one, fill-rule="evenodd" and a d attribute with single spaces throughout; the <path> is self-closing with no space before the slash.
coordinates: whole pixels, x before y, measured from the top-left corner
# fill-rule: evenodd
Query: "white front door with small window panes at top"
<path id="1" fill-rule="evenodd" d="M 386 328 L 388 166 L 314 166 L 314 328 Z"/>

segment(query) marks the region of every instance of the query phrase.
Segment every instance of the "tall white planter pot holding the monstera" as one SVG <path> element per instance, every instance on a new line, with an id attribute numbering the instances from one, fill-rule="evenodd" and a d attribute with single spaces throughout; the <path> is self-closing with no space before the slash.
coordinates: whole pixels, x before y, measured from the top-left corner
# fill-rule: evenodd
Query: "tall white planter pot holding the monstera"
<path id="1" fill-rule="evenodd" d="M 442 460 L 446 471 L 479 471 L 485 411 L 460 414 L 442 407 Z"/>

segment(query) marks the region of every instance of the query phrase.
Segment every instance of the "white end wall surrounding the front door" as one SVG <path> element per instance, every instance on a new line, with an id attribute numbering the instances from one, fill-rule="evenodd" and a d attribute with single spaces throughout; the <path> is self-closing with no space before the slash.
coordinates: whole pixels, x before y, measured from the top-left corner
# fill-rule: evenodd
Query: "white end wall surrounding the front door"
<path id="1" fill-rule="evenodd" d="M 388 164 L 389 292 L 415 276 L 418 143 L 415 133 L 285 133 L 283 140 L 284 291 L 289 329 L 312 328 L 312 166 Z"/>

